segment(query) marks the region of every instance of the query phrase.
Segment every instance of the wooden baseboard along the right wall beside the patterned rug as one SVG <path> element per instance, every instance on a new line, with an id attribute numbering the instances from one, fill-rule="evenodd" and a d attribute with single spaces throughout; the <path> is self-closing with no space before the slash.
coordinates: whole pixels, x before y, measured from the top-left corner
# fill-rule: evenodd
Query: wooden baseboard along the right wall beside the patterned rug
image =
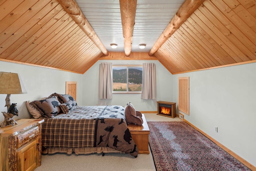
<path id="1" fill-rule="evenodd" d="M 211 141 L 213 141 L 214 143 L 216 143 L 216 145 L 218 145 L 220 148 L 224 149 L 227 153 L 229 153 L 230 155 L 232 155 L 234 158 L 236 158 L 238 161 L 240 161 L 241 163 L 243 163 L 244 165 L 246 165 L 249 169 L 251 169 L 252 171 L 256 171 L 256 167 L 254 165 L 252 165 L 251 163 L 249 163 L 248 161 L 246 161 L 245 159 L 243 159 L 242 157 L 240 157 L 239 155 L 237 155 L 236 153 L 234 153 L 233 151 L 231 151 L 230 149 L 228 149 L 227 147 L 225 147 L 224 145 L 222 145 L 221 143 L 219 143 L 218 141 L 216 141 L 215 139 L 213 139 L 212 137 L 210 137 L 210 135 L 208 135 L 207 133 L 205 133 L 204 131 L 202 131 L 201 129 L 199 129 L 198 127 L 196 127 L 195 125 L 193 125 L 192 123 L 190 123 L 189 121 L 187 121 L 186 119 L 183 119 L 183 121 L 185 121 L 186 123 L 188 123 L 190 126 L 192 126 L 194 129 L 196 129 L 197 131 L 199 131 L 200 133 L 202 133 L 204 136 L 206 136 L 207 138 L 209 138 Z"/>

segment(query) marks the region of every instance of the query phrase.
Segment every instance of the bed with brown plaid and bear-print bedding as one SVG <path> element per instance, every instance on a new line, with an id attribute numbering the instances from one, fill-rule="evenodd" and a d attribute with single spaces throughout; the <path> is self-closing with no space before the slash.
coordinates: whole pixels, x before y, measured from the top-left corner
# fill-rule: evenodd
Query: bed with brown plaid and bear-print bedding
<path id="1" fill-rule="evenodd" d="M 40 116 L 38 118 L 44 119 L 42 153 L 128 153 L 134 157 L 138 156 L 138 147 L 128 129 L 123 106 L 75 106 L 65 102 L 58 105 L 68 106 L 68 111 L 63 112 L 60 107 L 61 111 L 58 112 L 52 110 L 58 108 L 57 102 L 61 100 L 52 103 L 49 98 L 48 101 L 45 99 L 36 101 L 37 110 L 41 110 L 41 116 L 38 115 Z M 33 103 L 35 101 L 29 104 Z M 55 107 L 48 110 L 40 106 L 49 104 Z M 42 116 L 42 110 L 44 114 L 47 110 L 52 112 Z M 31 113 L 31 109 L 29 111 Z"/>

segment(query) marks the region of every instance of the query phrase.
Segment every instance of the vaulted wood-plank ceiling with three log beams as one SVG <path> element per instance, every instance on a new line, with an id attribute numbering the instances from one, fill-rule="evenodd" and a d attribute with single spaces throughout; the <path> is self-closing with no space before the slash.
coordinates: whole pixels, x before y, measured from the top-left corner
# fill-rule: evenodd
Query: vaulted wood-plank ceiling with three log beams
<path id="1" fill-rule="evenodd" d="M 256 0 L 0 0 L 0 11 L 7 62 L 84 73 L 159 60 L 172 74 L 256 62 Z"/>

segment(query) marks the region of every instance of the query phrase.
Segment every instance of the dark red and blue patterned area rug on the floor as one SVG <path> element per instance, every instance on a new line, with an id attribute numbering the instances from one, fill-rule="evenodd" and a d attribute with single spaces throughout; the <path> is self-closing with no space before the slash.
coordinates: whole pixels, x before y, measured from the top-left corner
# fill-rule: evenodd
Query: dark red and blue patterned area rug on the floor
<path id="1" fill-rule="evenodd" d="M 148 122 L 157 171 L 250 171 L 186 122 Z"/>

